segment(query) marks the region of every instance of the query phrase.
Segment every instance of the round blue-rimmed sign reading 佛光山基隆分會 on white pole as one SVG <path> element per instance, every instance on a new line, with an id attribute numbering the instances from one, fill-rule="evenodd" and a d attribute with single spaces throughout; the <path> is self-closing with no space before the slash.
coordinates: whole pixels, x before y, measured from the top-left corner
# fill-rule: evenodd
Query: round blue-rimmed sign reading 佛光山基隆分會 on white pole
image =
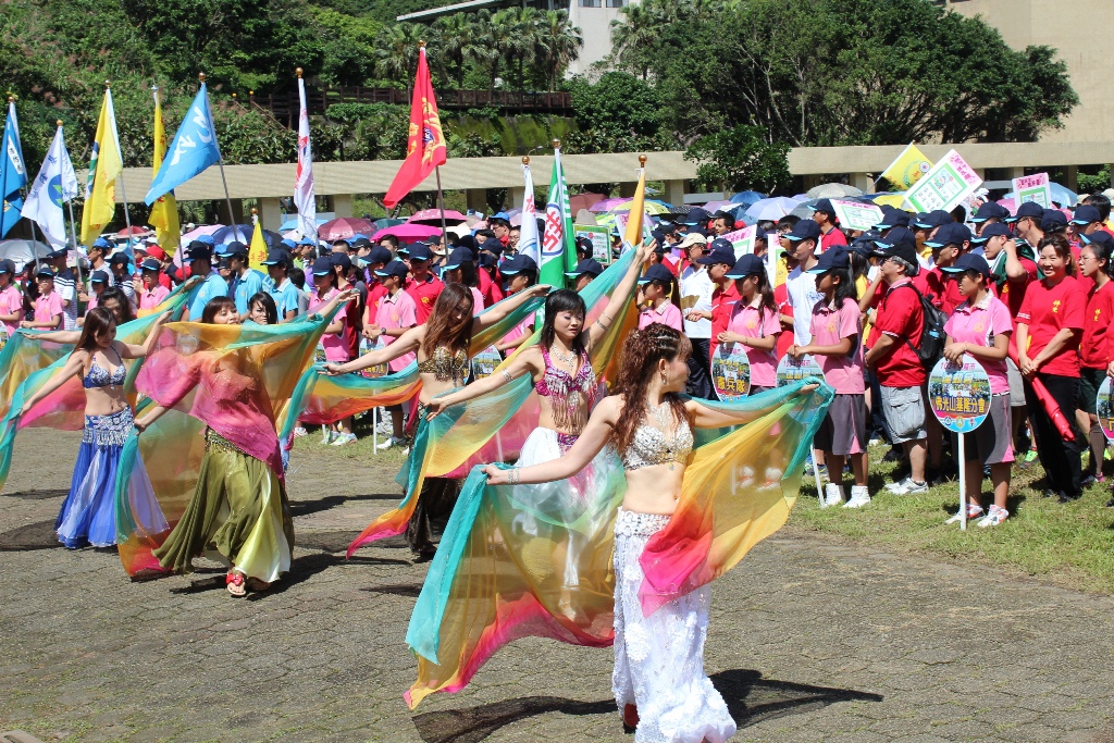
<path id="1" fill-rule="evenodd" d="M 928 402 L 940 426 L 959 434 L 959 528 L 967 529 L 965 434 L 990 414 L 990 378 L 969 353 L 960 363 L 940 359 L 928 375 Z"/>

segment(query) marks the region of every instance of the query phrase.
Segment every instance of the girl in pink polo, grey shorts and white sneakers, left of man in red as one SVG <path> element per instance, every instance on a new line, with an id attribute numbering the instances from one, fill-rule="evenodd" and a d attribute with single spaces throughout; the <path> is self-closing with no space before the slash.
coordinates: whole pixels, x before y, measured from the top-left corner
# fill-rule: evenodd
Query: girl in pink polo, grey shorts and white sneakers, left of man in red
<path id="1" fill-rule="evenodd" d="M 824 381 L 836 391 L 824 421 L 812 446 L 824 452 L 828 477 L 823 508 L 843 502 L 843 461 L 851 458 L 854 485 L 844 508 L 861 508 L 870 502 L 867 489 L 867 385 L 862 365 L 862 315 L 851 256 L 837 245 L 823 253 L 809 270 L 817 276 L 817 290 L 823 299 L 812 305 L 807 345 L 792 345 L 786 353 L 794 359 L 815 358 Z"/>

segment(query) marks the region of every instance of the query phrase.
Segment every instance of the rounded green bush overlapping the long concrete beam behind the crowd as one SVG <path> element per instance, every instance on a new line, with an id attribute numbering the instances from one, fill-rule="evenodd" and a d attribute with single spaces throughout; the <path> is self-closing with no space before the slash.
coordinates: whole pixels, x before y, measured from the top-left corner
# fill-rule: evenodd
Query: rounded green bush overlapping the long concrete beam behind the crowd
<path id="1" fill-rule="evenodd" d="M 771 194 L 788 186 L 789 145 L 766 141 L 756 126 L 736 126 L 701 137 L 685 150 L 696 160 L 696 176 L 705 186 Z"/>

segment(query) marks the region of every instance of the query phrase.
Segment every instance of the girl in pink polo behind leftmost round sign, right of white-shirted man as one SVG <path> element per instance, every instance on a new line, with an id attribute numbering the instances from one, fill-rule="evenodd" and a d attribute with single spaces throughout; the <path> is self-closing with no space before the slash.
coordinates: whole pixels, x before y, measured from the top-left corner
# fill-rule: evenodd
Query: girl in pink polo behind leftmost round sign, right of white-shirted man
<path id="1" fill-rule="evenodd" d="M 724 277 L 734 281 L 739 301 L 727 315 L 727 330 L 715 340 L 746 346 L 746 360 L 751 364 L 751 394 L 772 390 L 778 387 L 778 360 L 773 349 L 781 333 L 781 321 L 762 258 L 747 253 L 735 261 Z"/>

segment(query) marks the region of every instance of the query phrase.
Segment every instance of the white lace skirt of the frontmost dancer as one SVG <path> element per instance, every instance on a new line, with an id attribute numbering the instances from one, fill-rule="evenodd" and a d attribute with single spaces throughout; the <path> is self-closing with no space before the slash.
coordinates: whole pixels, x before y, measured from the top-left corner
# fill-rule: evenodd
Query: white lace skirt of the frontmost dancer
<path id="1" fill-rule="evenodd" d="M 668 516 L 618 511 L 615 520 L 615 671 L 619 713 L 638 707 L 635 743 L 721 743 L 735 734 L 720 692 L 704 673 L 711 590 L 703 586 L 643 616 L 638 558 Z"/>

